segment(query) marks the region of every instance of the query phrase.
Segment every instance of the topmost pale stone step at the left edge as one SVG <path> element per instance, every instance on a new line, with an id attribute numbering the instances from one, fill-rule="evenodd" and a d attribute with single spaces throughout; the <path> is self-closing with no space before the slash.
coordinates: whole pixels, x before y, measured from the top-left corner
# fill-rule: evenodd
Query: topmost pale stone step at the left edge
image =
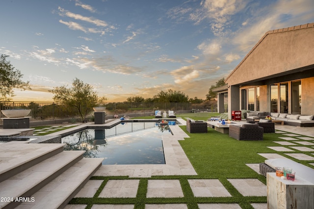
<path id="1" fill-rule="evenodd" d="M 63 151 L 65 144 L 7 142 L 0 146 L 0 182 Z"/>

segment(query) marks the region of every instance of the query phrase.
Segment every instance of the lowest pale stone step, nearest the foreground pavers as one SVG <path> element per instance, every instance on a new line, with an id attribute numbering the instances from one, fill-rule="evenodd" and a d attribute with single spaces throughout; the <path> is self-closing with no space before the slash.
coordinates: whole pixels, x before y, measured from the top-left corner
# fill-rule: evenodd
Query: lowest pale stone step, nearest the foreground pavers
<path id="1" fill-rule="evenodd" d="M 81 159 L 51 183 L 31 195 L 29 201 L 21 203 L 17 209 L 64 208 L 102 165 L 103 160 L 104 158 Z"/>

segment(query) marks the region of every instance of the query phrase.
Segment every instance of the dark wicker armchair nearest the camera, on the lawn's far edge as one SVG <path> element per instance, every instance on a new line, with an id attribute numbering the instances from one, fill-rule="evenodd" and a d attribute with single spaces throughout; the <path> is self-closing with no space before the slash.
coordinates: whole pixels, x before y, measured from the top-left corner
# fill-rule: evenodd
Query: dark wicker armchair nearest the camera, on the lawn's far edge
<path id="1" fill-rule="evenodd" d="M 229 136 L 243 141 L 262 141 L 263 128 L 257 124 L 230 125 Z"/>

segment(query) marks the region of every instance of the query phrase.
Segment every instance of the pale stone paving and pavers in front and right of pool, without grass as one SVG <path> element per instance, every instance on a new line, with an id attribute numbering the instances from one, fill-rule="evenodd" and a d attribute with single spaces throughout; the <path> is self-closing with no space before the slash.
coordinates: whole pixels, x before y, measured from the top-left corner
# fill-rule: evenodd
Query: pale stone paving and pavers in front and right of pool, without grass
<path id="1" fill-rule="evenodd" d="M 178 118 L 182 125 L 186 125 L 183 119 Z M 283 150 L 281 145 L 291 146 L 293 149 L 303 149 L 302 145 L 314 145 L 314 128 L 291 127 L 286 125 L 276 125 L 276 132 L 287 132 L 287 137 L 281 137 L 287 141 L 278 141 L 278 147 L 269 147 L 270 149 L 280 150 L 286 155 L 300 160 L 314 160 L 314 149 L 311 156 L 303 156 L 293 153 L 293 150 Z M 178 140 L 184 140 L 189 137 L 179 126 L 171 126 L 173 136 L 165 136 L 163 147 L 166 164 L 164 165 L 102 165 L 94 176 L 129 176 L 130 178 L 150 178 L 152 176 L 169 176 L 169 175 L 197 175 L 193 166 L 185 156 Z M 290 133 L 293 134 L 290 134 Z M 54 133 L 57 134 L 57 133 Z M 302 135 L 302 136 L 301 136 Z M 304 137 L 304 135 L 306 137 Z M 298 141 L 298 139 L 306 141 Z M 313 146 L 314 148 L 314 146 Z M 286 153 L 287 152 L 287 153 Z M 278 154 L 259 153 L 265 158 L 282 157 Z M 306 158 L 304 158 L 306 157 Z M 309 158 L 310 157 L 310 158 Z M 314 163 L 311 163 L 314 165 Z M 259 163 L 246 164 L 257 173 L 259 173 Z M 228 179 L 230 183 L 243 196 L 266 196 L 266 185 L 257 179 Z M 89 180 L 85 186 L 78 192 L 75 197 L 94 197 L 103 180 Z M 195 197 L 230 197 L 231 194 L 217 179 L 191 179 L 188 183 Z M 139 179 L 129 180 L 109 180 L 99 197 L 104 198 L 134 198 L 138 189 Z M 153 197 L 183 197 L 182 188 L 179 180 L 148 180 L 147 198 Z M 251 204 L 254 209 L 266 209 L 267 204 Z M 20 205 L 21 206 L 21 205 Z M 83 209 L 85 205 L 67 205 L 66 209 Z M 132 209 L 133 205 L 93 205 L 92 209 Z M 240 209 L 237 204 L 198 204 L 200 209 Z M 25 207 L 19 207 L 25 208 Z M 187 209 L 185 204 L 163 204 L 163 205 L 146 205 L 147 209 Z"/>

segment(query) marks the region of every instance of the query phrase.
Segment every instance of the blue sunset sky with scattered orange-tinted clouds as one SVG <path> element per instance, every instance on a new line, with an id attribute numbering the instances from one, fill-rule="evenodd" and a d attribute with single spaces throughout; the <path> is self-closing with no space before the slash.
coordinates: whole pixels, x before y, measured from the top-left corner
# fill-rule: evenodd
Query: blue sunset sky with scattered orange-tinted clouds
<path id="1" fill-rule="evenodd" d="M 181 91 L 206 99 L 265 32 L 314 22 L 313 0 L 1 0 L 0 54 L 52 102 L 78 78 L 108 102 Z"/>

